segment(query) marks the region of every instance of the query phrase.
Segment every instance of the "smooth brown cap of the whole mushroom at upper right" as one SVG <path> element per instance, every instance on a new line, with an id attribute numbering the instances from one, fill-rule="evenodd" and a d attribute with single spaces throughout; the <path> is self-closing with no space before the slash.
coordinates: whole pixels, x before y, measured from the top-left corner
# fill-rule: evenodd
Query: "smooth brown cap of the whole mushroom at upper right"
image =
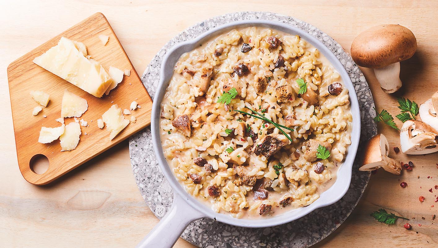
<path id="1" fill-rule="evenodd" d="M 380 68 L 413 56 L 415 35 L 401 25 L 384 24 L 365 30 L 351 44 L 351 56 L 359 66 Z"/>

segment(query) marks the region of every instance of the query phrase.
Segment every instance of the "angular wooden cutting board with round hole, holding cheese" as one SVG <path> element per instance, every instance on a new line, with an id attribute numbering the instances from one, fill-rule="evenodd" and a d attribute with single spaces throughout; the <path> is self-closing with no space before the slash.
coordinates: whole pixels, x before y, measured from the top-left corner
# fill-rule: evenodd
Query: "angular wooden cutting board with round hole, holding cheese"
<path id="1" fill-rule="evenodd" d="M 106 45 L 102 44 L 99 35 L 109 36 Z M 87 46 L 88 54 L 99 61 L 107 70 L 109 66 L 115 66 L 123 71 L 129 69 L 131 75 L 124 76 L 123 81 L 109 95 L 96 98 L 32 62 L 35 57 L 57 45 L 62 36 L 83 42 Z M 152 99 L 102 13 L 93 14 L 15 60 L 8 66 L 7 76 L 18 166 L 23 177 L 35 185 L 45 185 L 52 182 L 145 128 L 151 122 Z M 65 89 L 87 100 L 88 110 L 79 119 L 87 121 L 88 126 L 81 126 L 82 134 L 75 150 L 61 152 L 59 140 L 42 144 L 38 143 L 38 137 L 42 126 L 57 127 L 61 125 L 55 119 L 61 116 L 61 101 Z M 30 91 L 44 91 L 50 95 L 49 104 L 36 116 L 32 115 L 32 110 L 39 104 L 33 100 L 29 94 Z M 129 109 L 132 101 L 137 101 L 138 105 L 141 106 L 141 108 L 132 111 L 137 121 L 130 123 L 113 140 L 109 140 L 109 131 L 106 130 L 106 127 L 99 129 L 97 119 L 101 119 L 102 114 L 111 105 L 117 104 L 122 109 Z M 125 115 L 125 119 L 129 118 L 130 115 Z M 65 118 L 64 122 L 67 125 L 74 122 L 74 119 Z M 46 156 L 49 160 L 49 168 L 43 174 L 36 174 L 30 166 L 35 157 L 41 156 L 39 154 Z"/>

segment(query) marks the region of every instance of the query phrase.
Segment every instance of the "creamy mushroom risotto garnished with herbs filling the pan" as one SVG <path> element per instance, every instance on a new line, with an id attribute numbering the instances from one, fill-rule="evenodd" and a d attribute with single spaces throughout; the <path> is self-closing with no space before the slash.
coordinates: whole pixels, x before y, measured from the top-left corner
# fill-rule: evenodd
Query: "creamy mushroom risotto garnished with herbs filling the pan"
<path id="1" fill-rule="evenodd" d="M 233 29 L 178 60 L 161 104 L 166 160 L 218 213 L 270 217 L 329 189 L 350 145 L 348 90 L 298 35 Z"/>

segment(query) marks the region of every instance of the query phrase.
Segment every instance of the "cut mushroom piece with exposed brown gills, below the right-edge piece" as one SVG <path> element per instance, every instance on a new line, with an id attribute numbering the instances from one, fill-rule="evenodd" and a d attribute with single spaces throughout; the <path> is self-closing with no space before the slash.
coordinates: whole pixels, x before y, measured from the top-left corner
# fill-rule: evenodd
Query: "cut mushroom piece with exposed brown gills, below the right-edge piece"
<path id="1" fill-rule="evenodd" d="M 430 154 L 438 151 L 438 132 L 424 122 L 408 120 L 400 131 L 404 154 Z"/>

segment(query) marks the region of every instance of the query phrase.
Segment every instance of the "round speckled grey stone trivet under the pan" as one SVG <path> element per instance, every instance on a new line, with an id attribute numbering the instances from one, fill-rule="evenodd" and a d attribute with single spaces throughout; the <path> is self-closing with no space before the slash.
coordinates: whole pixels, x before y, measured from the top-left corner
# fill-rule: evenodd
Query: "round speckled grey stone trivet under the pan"
<path id="1" fill-rule="evenodd" d="M 187 28 L 167 42 L 152 59 L 152 62 L 141 77 L 151 97 L 154 96 L 159 82 L 162 58 L 168 49 L 179 42 L 193 39 L 210 28 L 215 28 L 221 24 L 251 19 L 265 19 L 293 25 L 318 38 L 318 40 L 332 50 L 349 73 L 356 89 L 362 118 L 361 142 L 368 140 L 377 133 L 377 128 L 372 120 L 375 112 L 372 109 L 374 102 L 371 91 L 359 67 L 357 67 L 341 45 L 311 24 L 299 21 L 293 17 L 268 12 L 239 12 L 213 17 Z M 139 104 L 141 104 L 141 101 L 139 101 Z M 140 189 L 141 195 L 152 212 L 161 219 L 167 210 L 170 209 L 173 193 L 156 161 L 152 149 L 150 128 L 146 128 L 130 138 L 129 151 L 138 189 Z M 361 154 L 360 146 L 357 154 Z M 201 248 L 309 247 L 321 241 L 339 227 L 353 211 L 362 196 L 369 180 L 369 173 L 357 170 L 360 166 L 357 160 L 358 158 L 356 158 L 353 166 L 350 189 L 335 204 L 314 210 L 288 224 L 267 228 L 235 227 L 205 218 L 190 224 L 181 237 Z"/>

